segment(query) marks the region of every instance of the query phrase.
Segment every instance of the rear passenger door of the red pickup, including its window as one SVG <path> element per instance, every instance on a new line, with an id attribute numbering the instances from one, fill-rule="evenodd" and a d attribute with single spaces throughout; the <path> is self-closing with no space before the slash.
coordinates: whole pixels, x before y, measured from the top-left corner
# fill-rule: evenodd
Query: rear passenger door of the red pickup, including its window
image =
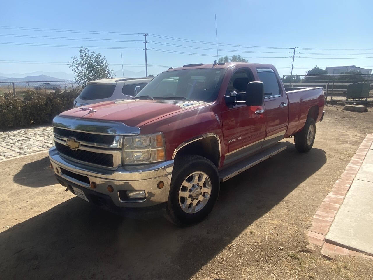
<path id="1" fill-rule="evenodd" d="M 274 144 L 285 136 L 288 128 L 288 97 L 282 90 L 281 82 L 275 71 L 270 68 L 258 68 L 257 75 L 264 84 L 264 109 L 266 117 L 266 137 L 263 147 Z"/>

